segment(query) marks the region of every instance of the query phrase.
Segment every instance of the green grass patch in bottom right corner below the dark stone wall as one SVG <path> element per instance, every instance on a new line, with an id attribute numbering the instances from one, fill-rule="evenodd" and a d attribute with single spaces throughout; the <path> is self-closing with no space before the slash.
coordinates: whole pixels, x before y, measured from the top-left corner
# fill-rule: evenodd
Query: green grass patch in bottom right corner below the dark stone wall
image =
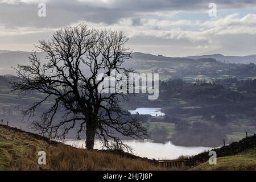
<path id="1" fill-rule="evenodd" d="M 216 165 L 205 162 L 191 170 L 256 170 L 256 147 L 237 155 L 217 158 Z"/>

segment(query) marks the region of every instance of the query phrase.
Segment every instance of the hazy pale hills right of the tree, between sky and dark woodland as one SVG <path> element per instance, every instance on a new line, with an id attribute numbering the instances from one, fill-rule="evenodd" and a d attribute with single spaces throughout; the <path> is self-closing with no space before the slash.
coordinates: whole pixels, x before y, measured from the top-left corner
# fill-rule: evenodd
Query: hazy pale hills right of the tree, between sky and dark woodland
<path id="1" fill-rule="evenodd" d="M 160 80 L 182 78 L 187 81 L 236 77 L 238 79 L 255 78 L 255 65 L 247 64 L 256 61 L 253 56 L 247 56 L 246 61 L 225 61 L 219 56 L 166 57 L 148 53 L 132 53 L 133 58 L 126 61 L 127 67 L 133 67 L 141 73 L 159 73 Z M 216 61 L 218 60 L 218 61 Z M 245 64 L 234 64 L 245 63 Z"/>

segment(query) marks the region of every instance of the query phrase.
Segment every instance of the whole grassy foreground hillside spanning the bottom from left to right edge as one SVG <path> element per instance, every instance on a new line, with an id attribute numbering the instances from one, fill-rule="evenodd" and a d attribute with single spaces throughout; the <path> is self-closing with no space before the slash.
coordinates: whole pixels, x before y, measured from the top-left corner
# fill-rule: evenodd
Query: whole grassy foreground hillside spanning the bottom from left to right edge
<path id="1" fill-rule="evenodd" d="M 46 165 L 38 164 L 38 152 L 42 150 L 46 152 Z M 189 167 L 178 169 L 189 169 Z M 208 162 L 204 162 L 190 169 L 256 170 L 256 147 L 236 155 L 217 158 L 217 165 L 210 166 Z M 0 125 L 0 170 L 166 170 L 166 168 L 154 166 L 142 159 L 112 154 L 109 151 L 74 148 L 36 134 Z"/>

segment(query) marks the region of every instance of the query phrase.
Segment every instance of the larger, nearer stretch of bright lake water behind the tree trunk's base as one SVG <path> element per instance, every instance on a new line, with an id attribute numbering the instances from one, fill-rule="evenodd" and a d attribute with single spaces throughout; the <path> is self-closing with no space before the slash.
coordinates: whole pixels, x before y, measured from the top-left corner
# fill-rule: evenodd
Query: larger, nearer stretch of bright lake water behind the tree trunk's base
<path id="1" fill-rule="evenodd" d="M 128 144 L 133 148 L 133 154 L 148 159 L 176 159 L 180 155 L 196 155 L 204 151 L 211 150 L 210 147 L 182 147 L 175 146 L 171 142 L 167 143 L 154 143 L 151 141 L 142 140 L 123 140 L 124 143 Z M 85 147 L 85 140 L 72 140 L 67 139 L 65 144 L 69 144 L 73 147 L 83 148 Z M 102 149 L 99 140 L 96 140 L 94 148 Z"/>

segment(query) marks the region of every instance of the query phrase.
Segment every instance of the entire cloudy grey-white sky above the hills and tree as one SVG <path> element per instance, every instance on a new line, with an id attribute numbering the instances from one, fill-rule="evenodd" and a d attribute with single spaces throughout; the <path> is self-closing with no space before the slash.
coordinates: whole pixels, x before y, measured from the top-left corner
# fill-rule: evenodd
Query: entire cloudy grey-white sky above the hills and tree
<path id="1" fill-rule="evenodd" d="M 39 3 L 45 17 L 38 16 Z M 209 16 L 209 3 L 216 3 L 217 16 Z M 254 0 L 0 0 L 0 49 L 31 51 L 38 40 L 79 22 L 125 32 L 134 52 L 256 54 Z"/>

